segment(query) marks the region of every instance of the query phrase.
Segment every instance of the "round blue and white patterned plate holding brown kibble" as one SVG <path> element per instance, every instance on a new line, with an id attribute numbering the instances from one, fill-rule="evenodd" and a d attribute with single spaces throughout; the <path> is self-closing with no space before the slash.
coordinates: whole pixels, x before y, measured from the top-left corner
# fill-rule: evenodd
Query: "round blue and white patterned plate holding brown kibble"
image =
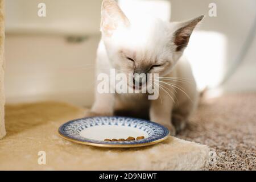
<path id="1" fill-rule="evenodd" d="M 142 147 L 162 142 L 169 130 L 151 121 L 128 117 L 91 117 L 69 121 L 60 126 L 61 137 L 72 142 L 97 147 Z M 108 142 L 105 139 L 144 137 L 141 140 Z"/>

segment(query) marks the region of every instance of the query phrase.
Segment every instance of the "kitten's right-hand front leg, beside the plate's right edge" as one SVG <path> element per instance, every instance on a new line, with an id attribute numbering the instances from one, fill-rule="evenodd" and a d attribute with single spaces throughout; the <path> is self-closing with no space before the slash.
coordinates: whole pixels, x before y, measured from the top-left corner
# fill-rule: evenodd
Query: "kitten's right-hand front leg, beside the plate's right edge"
<path id="1" fill-rule="evenodd" d="M 167 127 L 172 136 L 176 134 L 175 127 L 172 125 L 172 107 L 174 102 L 167 93 L 161 93 L 162 100 L 159 97 L 157 100 L 152 100 L 150 105 L 150 120 L 160 125 Z"/>

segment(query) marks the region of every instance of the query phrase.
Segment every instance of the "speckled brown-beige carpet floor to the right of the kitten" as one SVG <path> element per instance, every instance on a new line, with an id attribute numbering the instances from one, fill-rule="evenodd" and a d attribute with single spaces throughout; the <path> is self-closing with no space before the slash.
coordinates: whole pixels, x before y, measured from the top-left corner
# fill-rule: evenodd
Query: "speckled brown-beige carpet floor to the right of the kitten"
<path id="1" fill-rule="evenodd" d="M 256 94 L 204 101 L 177 137 L 207 144 L 210 170 L 256 170 Z"/>

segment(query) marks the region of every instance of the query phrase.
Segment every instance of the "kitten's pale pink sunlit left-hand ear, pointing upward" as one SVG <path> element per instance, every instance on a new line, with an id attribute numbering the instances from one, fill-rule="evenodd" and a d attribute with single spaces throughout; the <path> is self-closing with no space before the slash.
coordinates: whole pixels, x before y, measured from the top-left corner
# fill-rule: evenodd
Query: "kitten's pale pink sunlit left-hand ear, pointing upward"
<path id="1" fill-rule="evenodd" d="M 129 27 L 130 21 L 114 0 L 104 0 L 101 9 L 101 32 L 112 36 L 118 27 Z"/>

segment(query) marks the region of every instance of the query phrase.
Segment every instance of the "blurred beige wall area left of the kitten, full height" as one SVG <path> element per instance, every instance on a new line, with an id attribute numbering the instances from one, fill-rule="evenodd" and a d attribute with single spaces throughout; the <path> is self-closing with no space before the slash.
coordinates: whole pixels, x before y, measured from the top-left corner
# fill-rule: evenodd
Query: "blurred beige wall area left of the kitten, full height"
<path id="1" fill-rule="evenodd" d="M 46 3 L 46 17 L 38 4 Z M 75 2 L 75 3 L 74 3 Z M 6 1 L 7 103 L 60 100 L 90 106 L 101 0 Z M 68 43 L 67 36 L 87 36 Z"/>

